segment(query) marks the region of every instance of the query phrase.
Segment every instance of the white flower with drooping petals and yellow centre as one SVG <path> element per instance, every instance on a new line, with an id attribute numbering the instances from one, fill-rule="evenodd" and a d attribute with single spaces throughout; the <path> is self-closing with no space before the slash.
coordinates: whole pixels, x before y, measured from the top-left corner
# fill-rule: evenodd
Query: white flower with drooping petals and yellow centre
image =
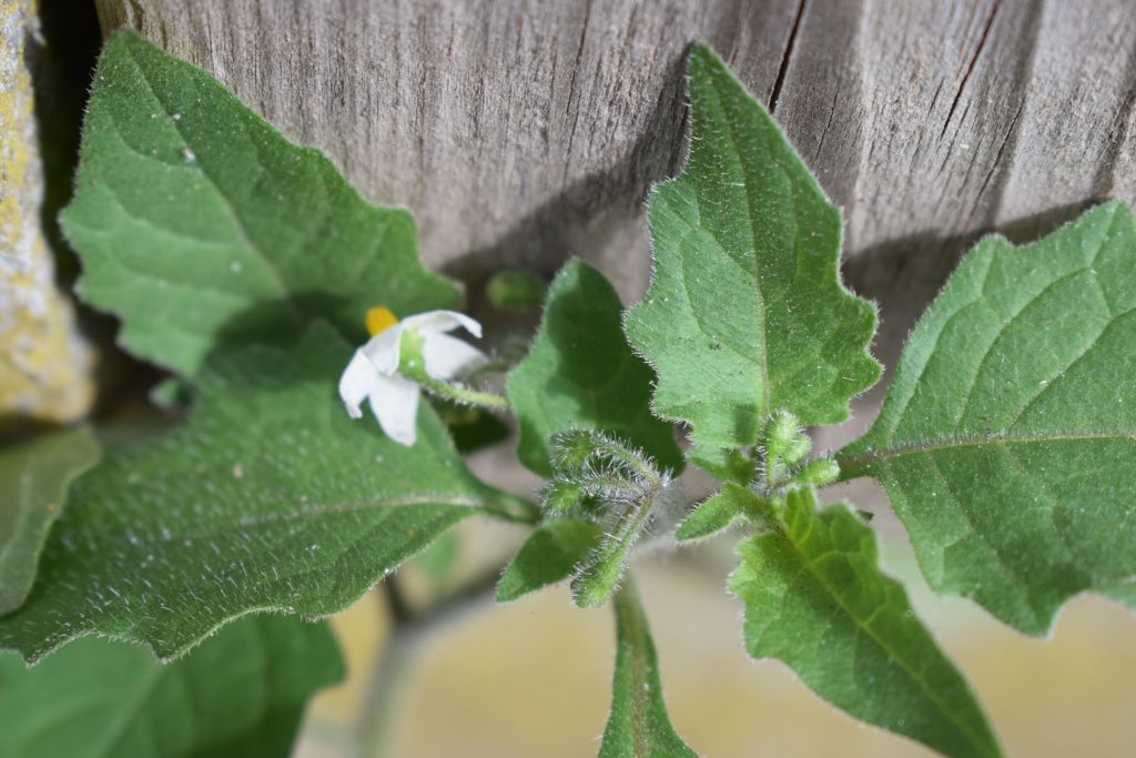
<path id="1" fill-rule="evenodd" d="M 368 328 L 374 336 L 356 350 L 351 363 L 340 377 L 340 397 L 351 418 L 361 418 L 364 400 L 389 438 L 410 447 L 415 443 L 418 419 L 417 383 L 400 376 L 402 335 L 418 334 L 423 342 L 423 363 L 433 378 L 446 381 L 465 374 L 487 359 L 477 348 L 452 338 L 459 326 L 476 338 L 482 325 L 453 310 L 431 310 L 408 316 L 399 322 L 385 308 L 374 308 L 367 315 Z"/>

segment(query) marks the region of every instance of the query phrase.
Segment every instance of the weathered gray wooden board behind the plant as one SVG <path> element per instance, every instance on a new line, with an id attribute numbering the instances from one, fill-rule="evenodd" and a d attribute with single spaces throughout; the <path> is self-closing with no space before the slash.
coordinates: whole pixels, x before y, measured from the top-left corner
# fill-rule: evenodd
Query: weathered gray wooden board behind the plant
<path id="1" fill-rule="evenodd" d="M 847 218 L 883 357 L 976 235 L 1136 198 L 1130 0 L 98 0 L 214 73 L 425 258 L 595 261 L 636 297 L 643 200 L 679 165 L 683 57 L 713 44 Z"/>

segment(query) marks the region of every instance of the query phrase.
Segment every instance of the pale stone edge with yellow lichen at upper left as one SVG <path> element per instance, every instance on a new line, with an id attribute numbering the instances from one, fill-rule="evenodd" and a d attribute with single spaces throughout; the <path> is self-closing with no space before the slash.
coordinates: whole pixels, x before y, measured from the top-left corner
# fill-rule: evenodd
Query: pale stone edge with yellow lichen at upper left
<path id="1" fill-rule="evenodd" d="M 68 422 L 90 407 L 91 358 L 55 284 L 40 220 L 36 148 L 24 47 L 35 0 L 0 0 L 0 415 Z"/>

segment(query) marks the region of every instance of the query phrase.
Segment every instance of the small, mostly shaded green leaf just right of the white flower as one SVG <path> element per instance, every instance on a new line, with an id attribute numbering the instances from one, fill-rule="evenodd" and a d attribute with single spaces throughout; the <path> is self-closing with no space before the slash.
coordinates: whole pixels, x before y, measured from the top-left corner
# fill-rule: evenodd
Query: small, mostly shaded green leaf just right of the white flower
<path id="1" fill-rule="evenodd" d="M 537 474 L 552 475 L 549 438 L 569 428 L 608 432 L 682 468 L 674 427 L 651 415 L 651 369 L 627 345 L 621 314 L 616 290 L 587 264 L 569 261 L 552 282 L 533 350 L 509 376 L 518 453 Z"/>

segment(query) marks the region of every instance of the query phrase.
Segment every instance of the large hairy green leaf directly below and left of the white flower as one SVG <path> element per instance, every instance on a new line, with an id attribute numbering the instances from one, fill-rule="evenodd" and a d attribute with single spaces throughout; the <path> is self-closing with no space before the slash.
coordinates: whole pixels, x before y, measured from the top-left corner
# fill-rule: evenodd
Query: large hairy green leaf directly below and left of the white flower
<path id="1" fill-rule="evenodd" d="M 73 485 L 0 648 L 35 660 L 98 633 L 169 658 L 250 611 L 337 613 L 454 523 L 528 507 L 474 478 L 427 403 L 412 448 L 348 418 L 350 357 L 317 324 L 211 358 L 184 426 Z"/>

